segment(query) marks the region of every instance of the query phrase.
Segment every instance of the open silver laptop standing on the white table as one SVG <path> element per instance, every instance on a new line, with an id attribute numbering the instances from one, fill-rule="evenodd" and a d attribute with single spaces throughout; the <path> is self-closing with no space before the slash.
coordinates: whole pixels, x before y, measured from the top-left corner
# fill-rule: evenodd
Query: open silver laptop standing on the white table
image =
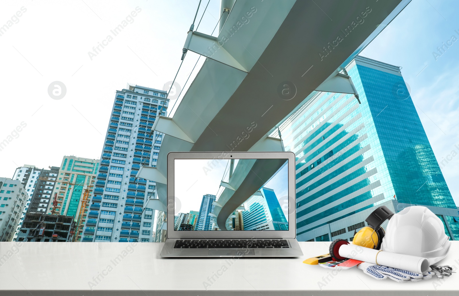
<path id="1" fill-rule="evenodd" d="M 162 257 L 299 257 L 295 154 L 171 152 Z"/>

